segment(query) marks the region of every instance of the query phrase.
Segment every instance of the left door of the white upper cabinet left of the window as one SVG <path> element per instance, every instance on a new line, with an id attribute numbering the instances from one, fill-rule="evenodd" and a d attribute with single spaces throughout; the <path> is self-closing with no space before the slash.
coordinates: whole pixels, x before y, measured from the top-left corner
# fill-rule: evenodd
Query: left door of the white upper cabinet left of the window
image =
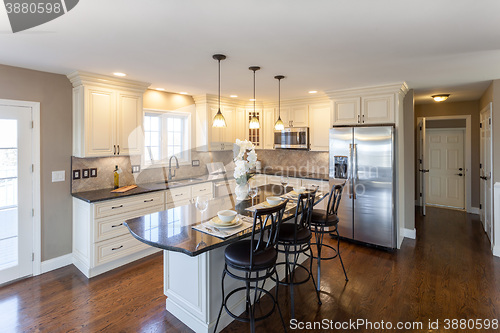
<path id="1" fill-rule="evenodd" d="M 85 156 L 113 156 L 116 94 L 105 88 L 88 87 L 85 100 Z"/>

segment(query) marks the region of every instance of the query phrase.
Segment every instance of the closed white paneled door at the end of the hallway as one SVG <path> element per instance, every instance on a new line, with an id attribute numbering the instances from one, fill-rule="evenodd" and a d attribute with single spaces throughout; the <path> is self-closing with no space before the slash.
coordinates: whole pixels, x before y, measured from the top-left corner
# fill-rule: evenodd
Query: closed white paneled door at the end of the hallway
<path id="1" fill-rule="evenodd" d="M 427 129 L 427 204 L 465 209 L 464 129 Z"/>

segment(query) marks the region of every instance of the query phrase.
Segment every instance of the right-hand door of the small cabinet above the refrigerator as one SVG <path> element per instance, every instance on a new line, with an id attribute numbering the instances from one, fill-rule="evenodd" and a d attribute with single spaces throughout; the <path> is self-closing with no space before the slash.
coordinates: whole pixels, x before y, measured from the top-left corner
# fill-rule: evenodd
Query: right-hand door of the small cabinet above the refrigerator
<path id="1" fill-rule="evenodd" d="M 394 122 L 394 95 L 361 97 L 361 122 L 365 124 Z"/>

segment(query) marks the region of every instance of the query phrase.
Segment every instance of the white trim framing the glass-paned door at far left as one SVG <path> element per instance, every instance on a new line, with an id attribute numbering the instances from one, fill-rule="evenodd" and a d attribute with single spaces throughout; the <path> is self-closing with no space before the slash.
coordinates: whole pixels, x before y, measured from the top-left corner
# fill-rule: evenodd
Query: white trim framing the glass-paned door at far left
<path id="1" fill-rule="evenodd" d="M 42 204 L 40 186 L 40 103 L 29 101 L 17 101 L 0 99 L 0 104 L 8 106 L 31 108 L 33 121 L 33 132 L 31 135 L 31 163 L 34 165 L 33 172 L 33 275 L 39 275 L 42 262 Z"/>

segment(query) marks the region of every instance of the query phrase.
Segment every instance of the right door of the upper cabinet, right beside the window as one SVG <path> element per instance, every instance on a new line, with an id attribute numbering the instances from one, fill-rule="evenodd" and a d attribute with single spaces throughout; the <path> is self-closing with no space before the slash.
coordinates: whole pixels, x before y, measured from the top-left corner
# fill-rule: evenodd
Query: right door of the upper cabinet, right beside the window
<path id="1" fill-rule="evenodd" d="M 143 147 L 142 95 L 118 93 L 117 155 L 140 155 Z"/>

